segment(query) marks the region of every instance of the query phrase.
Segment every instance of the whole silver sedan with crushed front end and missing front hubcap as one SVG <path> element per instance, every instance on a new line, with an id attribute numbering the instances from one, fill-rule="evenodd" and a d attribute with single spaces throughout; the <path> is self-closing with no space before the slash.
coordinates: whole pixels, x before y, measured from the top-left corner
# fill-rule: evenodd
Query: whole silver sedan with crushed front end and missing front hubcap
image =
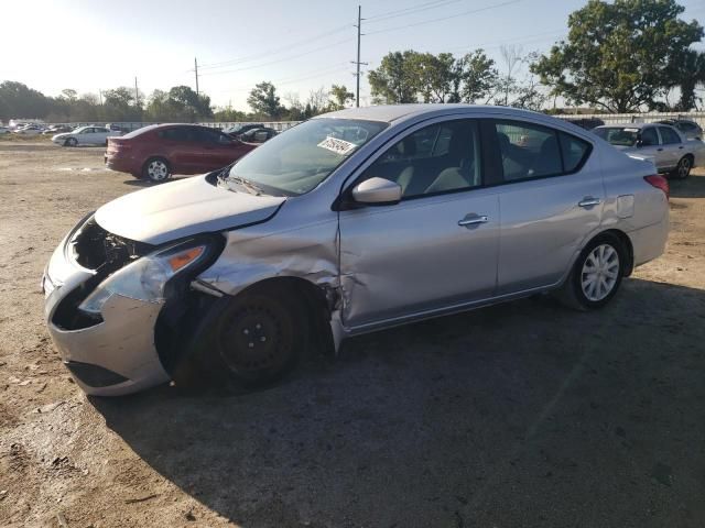
<path id="1" fill-rule="evenodd" d="M 601 308 L 662 254 L 668 193 L 652 163 L 549 116 L 347 109 L 88 215 L 51 257 L 44 314 L 89 394 L 270 383 L 419 319 L 544 292 Z"/>

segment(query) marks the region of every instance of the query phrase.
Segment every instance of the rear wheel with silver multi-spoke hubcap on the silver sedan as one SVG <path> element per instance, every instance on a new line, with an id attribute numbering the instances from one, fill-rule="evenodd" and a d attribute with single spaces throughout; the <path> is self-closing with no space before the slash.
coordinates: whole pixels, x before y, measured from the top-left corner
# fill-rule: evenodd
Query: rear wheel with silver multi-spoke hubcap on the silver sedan
<path id="1" fill-rule="evenodd" d="M 582 311 L 603 308 L 617 294 L 626 263 L 627 252 L 617 237 L 607 233 L 593 239 L 575 261 L 558 299 Z"/>

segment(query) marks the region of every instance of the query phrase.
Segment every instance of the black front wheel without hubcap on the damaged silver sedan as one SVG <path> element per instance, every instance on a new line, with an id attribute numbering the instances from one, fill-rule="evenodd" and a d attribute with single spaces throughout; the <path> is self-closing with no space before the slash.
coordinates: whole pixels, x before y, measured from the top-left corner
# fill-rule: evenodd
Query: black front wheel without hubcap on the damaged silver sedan
<path id="1" fill-rule="evenodd" d="M 216 382 L 257 388 L 281 380 L 303 355 L 303 310 L 274 292 L 245 293 L 213 308 L 216 317 L 199 332 L 207 339 L 200 371 Z"/>

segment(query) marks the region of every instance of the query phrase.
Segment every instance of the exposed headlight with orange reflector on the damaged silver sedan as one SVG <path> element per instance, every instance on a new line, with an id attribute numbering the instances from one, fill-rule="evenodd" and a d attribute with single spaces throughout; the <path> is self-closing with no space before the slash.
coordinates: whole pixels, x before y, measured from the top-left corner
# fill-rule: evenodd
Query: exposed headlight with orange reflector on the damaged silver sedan
<path id="1" fill-rule="evenodd" d="M 208 245 L 183 244 L 138 258 L 110 275 L 78 306 L 91 315 L 100 315 L 106 301 L 113 295 L 147 302 L 164 300 L 164 286 L 177 273 L 192 267 L 208 254 Z"/>

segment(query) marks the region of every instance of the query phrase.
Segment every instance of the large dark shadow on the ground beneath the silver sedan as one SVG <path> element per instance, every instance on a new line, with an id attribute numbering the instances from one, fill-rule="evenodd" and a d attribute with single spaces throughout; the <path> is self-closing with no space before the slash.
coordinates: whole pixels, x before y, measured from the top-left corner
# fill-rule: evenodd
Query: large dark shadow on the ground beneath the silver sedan
<path id="1" fill-rule="evenodd" d="M 705 515 L 704 319 L 705 290 L 632 278 L 598 312 L 540 297 L 355 338 L 267 391 L 91 402 L 243 527 L 668 525 Z"/>

